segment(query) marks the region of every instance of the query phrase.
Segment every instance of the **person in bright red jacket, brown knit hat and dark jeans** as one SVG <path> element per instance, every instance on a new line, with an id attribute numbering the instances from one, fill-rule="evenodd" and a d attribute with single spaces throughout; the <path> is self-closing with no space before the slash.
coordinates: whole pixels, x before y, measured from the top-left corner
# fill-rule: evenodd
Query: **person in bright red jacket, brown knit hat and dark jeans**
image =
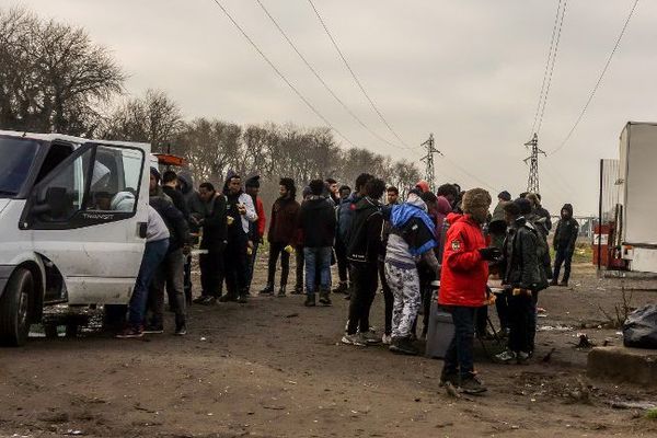
<path id="1" fill-rule="evenodd" d="M 500 256 L 486 247 L 482 223 L 491 207 L 491 195 L 473 188 L 463 196 L 463 215 L 450 214 L 445 241 L 438 303 L 452 315 L 454 336 L 445 355 L 440 383 L 451 382 L 465 393 L 476 394 L 486 387 L 476 378 L 473 364 L 475 310 L 486 299 L 488 263 Z"/>

